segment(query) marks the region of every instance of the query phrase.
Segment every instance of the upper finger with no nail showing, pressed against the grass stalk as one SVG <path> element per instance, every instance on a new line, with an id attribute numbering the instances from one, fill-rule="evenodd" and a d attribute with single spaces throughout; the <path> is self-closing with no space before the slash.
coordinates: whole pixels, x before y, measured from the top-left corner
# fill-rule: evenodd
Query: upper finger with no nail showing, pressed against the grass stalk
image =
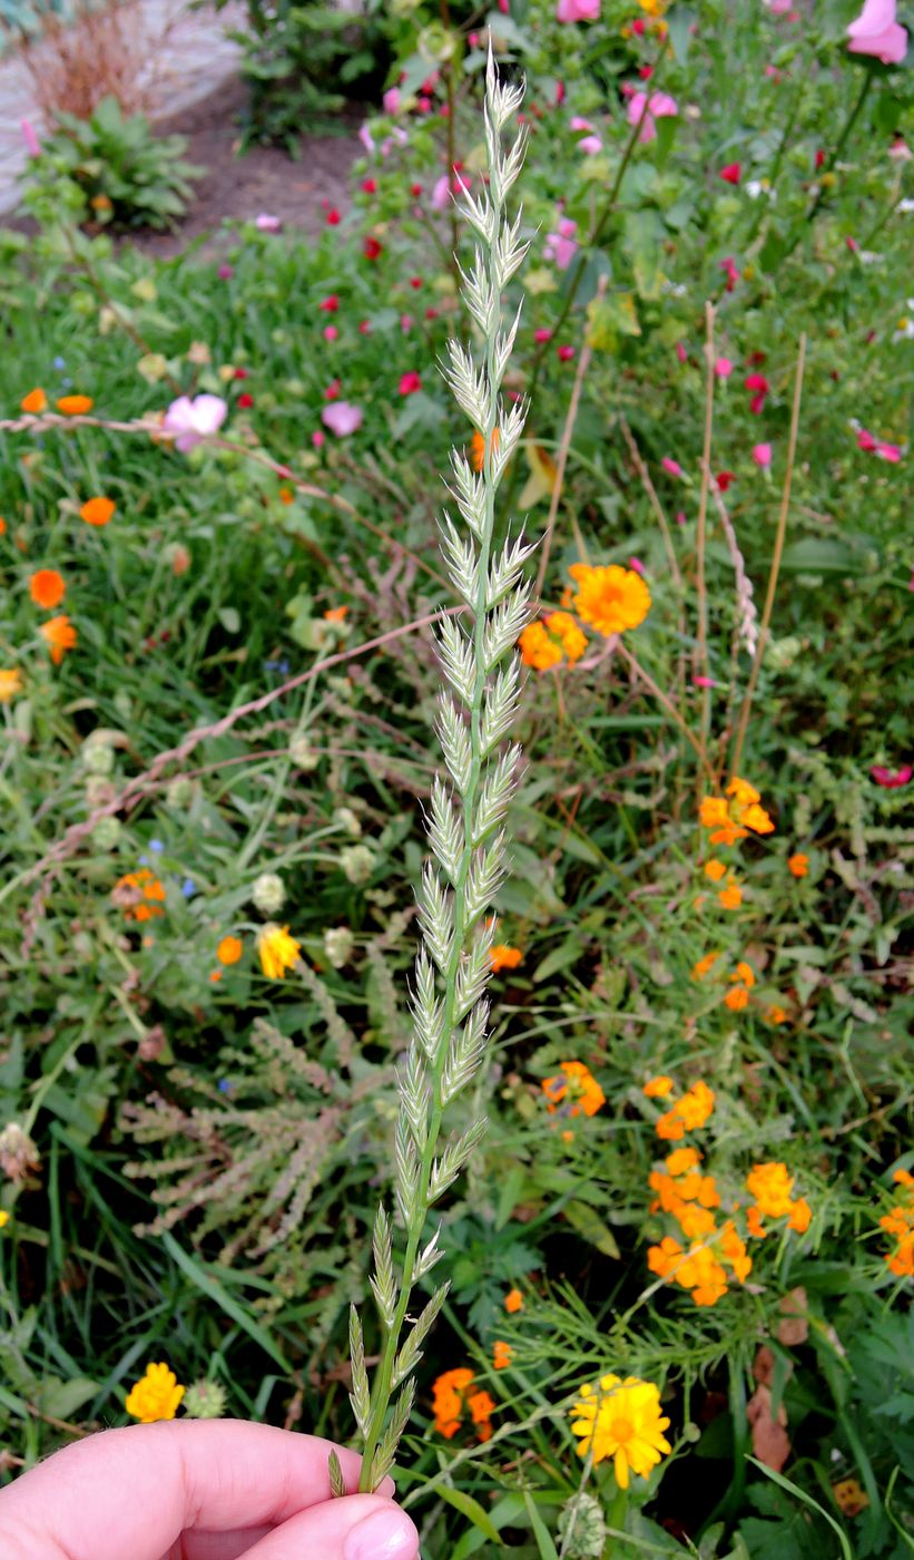
<path id="1" fill-rule="evenodd" d="M 158 1560 L 186 1529 L 270 1529 L 328 1501 L 331 1449 L 240 1420 L 105 1431 L 0 1491 L 0 1532 L 37 1533 L 41 1560 Z M 356 1490 L 360 1459 L 335 1451 Z"/>

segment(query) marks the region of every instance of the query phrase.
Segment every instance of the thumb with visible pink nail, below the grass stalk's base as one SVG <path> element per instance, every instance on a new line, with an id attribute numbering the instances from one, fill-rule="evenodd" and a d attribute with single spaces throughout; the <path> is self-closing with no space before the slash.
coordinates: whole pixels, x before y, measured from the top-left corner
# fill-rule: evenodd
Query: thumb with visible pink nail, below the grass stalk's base
<path id="1" fill-rule="evenodd" d="M 393 1501 L 346 1494 L 276 1527 L 245 1560 L 418 1560 L 420 1537 Z"/>

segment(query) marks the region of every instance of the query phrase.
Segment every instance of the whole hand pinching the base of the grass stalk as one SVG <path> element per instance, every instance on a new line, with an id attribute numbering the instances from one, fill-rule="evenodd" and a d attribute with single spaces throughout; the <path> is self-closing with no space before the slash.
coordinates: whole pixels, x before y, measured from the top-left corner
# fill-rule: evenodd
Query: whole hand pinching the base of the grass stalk
<path id="1" fill-rule="evenodd" d="M 416 1560 L 379 1494 L 331 1499 L 331 1441 L 240 1420 L 103 1431 L 0 1490 L 3 1560 Z M 360 1459 L 335 1448 L 346 1490 Z"/>

